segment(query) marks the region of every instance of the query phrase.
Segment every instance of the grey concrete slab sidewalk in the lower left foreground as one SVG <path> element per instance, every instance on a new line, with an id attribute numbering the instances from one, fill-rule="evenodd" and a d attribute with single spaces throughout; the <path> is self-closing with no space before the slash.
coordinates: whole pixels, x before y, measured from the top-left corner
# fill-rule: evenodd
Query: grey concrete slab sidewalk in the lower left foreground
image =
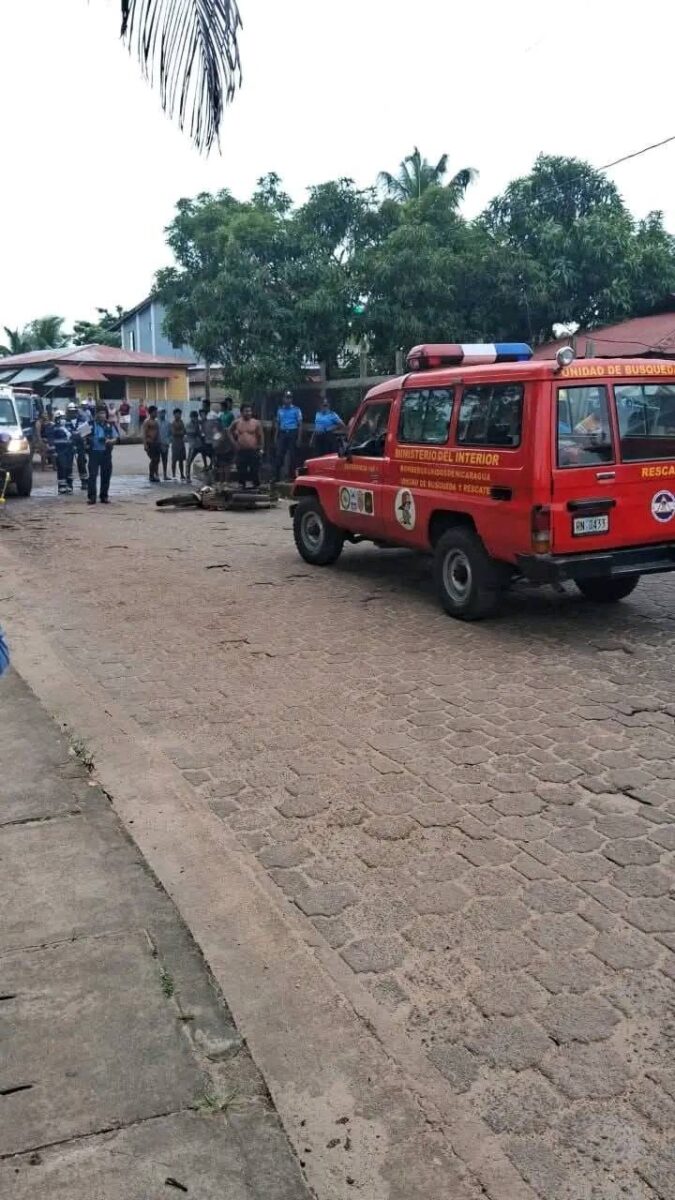
<path id="1" fill-rule="evenodd" d="M 305 1200 L 172 901 L 25 684 L 0 682 L 0 1195 Z"/>

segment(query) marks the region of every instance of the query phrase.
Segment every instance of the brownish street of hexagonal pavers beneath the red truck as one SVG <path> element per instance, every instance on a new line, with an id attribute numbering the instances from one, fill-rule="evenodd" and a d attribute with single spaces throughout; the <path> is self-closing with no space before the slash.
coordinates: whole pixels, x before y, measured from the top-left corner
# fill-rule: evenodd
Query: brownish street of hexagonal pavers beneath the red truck
<path id="1" fill-rule="evenodd" d="M 10 640 L 40 626 L 179 768 L 527 1194 L 674 1200 L 673 577 L 462 625 L 422 558 L 317 570 L 286 505 L 117 484 L 0 510 Z"/>

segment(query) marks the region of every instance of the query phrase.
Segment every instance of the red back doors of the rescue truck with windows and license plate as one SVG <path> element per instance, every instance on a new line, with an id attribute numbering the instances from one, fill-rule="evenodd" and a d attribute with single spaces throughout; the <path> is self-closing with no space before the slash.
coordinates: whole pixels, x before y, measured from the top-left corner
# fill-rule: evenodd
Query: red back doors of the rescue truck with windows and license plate
<path id="1" fill-rule="evenodd" d="M 675 539 L 675 385 L 561 383 L 554 403 L 552 552 Z"/>

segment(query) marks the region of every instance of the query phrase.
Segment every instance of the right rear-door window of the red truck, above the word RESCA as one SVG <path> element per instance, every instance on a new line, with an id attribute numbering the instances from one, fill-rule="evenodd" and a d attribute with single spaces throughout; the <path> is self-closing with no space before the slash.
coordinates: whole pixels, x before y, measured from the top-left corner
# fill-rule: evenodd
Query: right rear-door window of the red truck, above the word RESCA
<path id="1" fill-rule="evenodd" d="M 675 385 L 615 384 L 623 462 L 675 458 Z"/>

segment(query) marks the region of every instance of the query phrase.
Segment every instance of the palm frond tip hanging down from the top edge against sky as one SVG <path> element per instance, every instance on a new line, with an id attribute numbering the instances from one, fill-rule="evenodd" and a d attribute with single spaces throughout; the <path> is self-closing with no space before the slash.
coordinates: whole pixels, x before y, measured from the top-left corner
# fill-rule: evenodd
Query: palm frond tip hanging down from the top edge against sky
<path id="1" fill-rule="evenodd" d="M 162 108 L 207 152 L 241 83 L 237 0 L 121 0 L 121 36 Z"/>

